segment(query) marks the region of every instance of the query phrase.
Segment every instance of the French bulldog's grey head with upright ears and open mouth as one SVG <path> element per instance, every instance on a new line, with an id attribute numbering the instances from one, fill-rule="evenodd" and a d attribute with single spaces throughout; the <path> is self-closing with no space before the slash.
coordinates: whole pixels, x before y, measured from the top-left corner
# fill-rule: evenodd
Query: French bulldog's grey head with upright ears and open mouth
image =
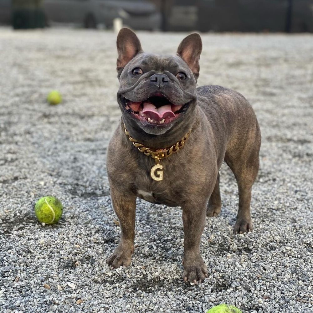
<path id="1" fill-rule="evenodd" d="M 147 134 L 161 135 L 186 124 L 196 106 L 201 38 L 194 33 L 176 56 L 144 53 L 136 36 L 123 28 L 117 36 L 118 102 L 124 121 Z"/>

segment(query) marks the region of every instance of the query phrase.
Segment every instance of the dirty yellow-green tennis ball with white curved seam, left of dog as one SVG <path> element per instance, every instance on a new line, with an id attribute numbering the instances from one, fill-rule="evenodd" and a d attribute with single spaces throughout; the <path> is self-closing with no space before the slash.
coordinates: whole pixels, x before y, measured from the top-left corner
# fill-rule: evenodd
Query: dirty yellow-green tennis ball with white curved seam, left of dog
<path id="1" fill-rule="evenodd" d="M 44 224 L 58 223 L 63 213 L 62 203 L 54 197 L 40 198 L 35 205 L 38 221 Z"/>

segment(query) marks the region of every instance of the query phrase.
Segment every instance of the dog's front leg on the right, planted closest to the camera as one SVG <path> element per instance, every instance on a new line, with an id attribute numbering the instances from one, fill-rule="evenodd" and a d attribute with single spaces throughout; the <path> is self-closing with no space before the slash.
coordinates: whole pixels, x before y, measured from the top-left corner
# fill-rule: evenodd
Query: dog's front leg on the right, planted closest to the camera
<path id="1" fill-rule="evenodd" d="M 206 221 L 206 202 L 188 203 L 182 206 L 184 224 L 184 273 L 185 281 L 201 282 L 208 277 L 207 267 L 200 255 L 200 240 Z"/>

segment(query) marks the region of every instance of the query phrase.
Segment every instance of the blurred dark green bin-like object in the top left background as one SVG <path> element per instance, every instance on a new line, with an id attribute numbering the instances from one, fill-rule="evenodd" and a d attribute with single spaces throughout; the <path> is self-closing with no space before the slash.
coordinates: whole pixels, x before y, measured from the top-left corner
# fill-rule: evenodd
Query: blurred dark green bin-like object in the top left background
<path id="1" fill-rule="evenodd" d="M 12 0 L 13 28 L 44 28 L 46 19 L 42 3 L 42 0 Z"/>

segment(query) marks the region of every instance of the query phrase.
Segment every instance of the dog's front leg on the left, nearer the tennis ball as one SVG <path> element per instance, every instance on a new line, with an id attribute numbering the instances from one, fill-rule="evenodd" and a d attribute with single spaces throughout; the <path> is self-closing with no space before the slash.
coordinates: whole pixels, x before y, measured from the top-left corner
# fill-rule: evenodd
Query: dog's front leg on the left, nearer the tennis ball
<path id="1" fill-rule="evenodd" d="M 114 211 L 121 227 L 121 239 L 107 263 L 111 268 L 131 265 L 131 255 L 134 251 L 136 196 L 121 192 L 110 185 Z"/>

